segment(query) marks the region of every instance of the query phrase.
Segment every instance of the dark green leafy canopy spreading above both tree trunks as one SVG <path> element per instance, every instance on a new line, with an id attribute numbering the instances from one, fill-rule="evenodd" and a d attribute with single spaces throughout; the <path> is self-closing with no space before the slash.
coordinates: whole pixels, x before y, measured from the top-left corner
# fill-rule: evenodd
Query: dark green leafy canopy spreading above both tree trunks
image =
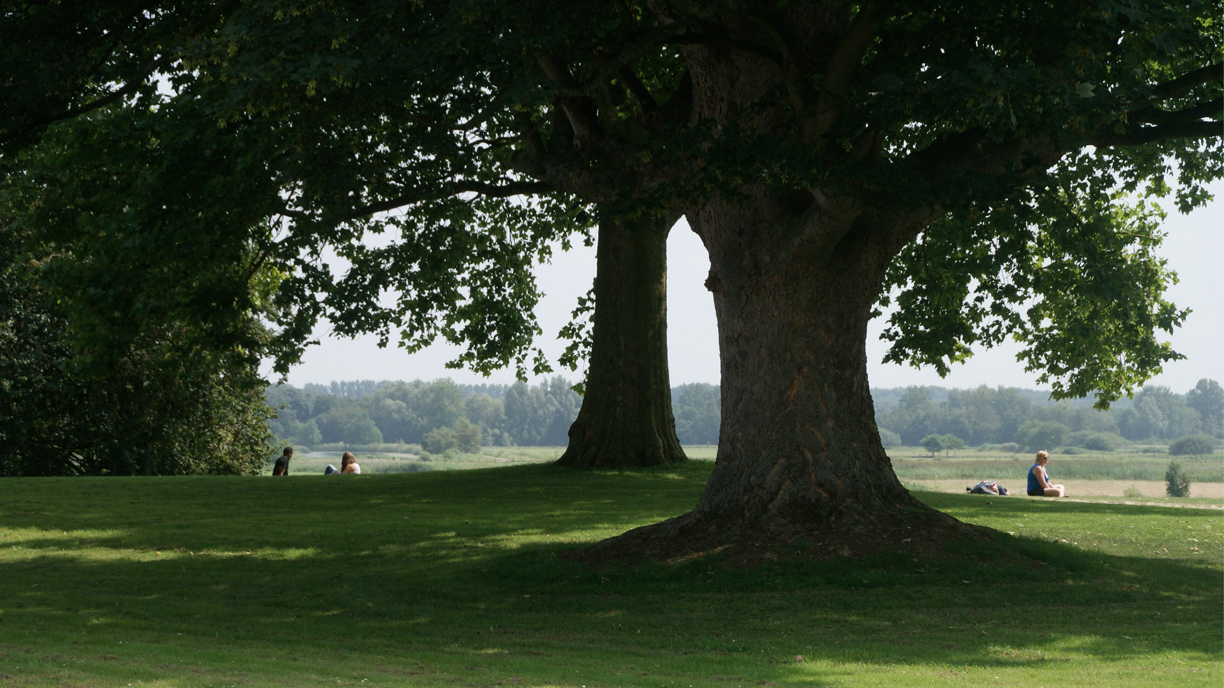
<path id="1" fill-rule="evenodd" d="M 44 207 L 100 215 L 99 203 L 164 190 L 173 202 L 127 208 L 143 229 L 125 228 L 124 241 L 154 233 L 135 242 L 179 277 L 197 246 L 164 255 L 185 246 L 168 230 L 253 250 L 248 262 L 288 277 L 280 293 L 294 316 L 275 350 L 289 360 L 327 315 L 340 333 L 465 342 L 458 362 L 476 370 L 521 364 L 536 333 L 524 256 L 546 257 L 547 240 L 591 222 L 584 204 L 632 214 L 745 182 L 825 196 L 864 185 L 931 206 L 889 273 L 886 286 L 902 289 L 890 359 L 942 370 L 1010 335 L 1058 394 L 1108 393 L 1176 356 L 1151 335 L 1184 317 L 1163 300 L 1171 275 L 1152 255 L 1162 212 L 1126 195 L 1166 195 L 1176 175 L 1185 211 L 1219 171 L 1218 127 L 1203 121 L 1219 91 L 1208 9 L 596 2 L 564 22 L 520 1 L 31 10 L 6 22 L 31 38 L 6 58 L 43 86 L 17 82 L 6 103 L 24 110 L 6 111 L 49 114 L 7 131 L 92 111 L 40 151 L 45 169 L 72 174 L 51 184 L 31 159 L 17 163 L 39 192 L 70 185 Z M 808 18 L 788 24 L 792 15 Z M 64 48 L 34 60 L 43 71 L 17 69 L 48 50 L 34 37 L 73 27 L 114 36 L 110 53 Z M 826 39 L 818 49 L 800 36 Z M 694 45 L 745 51 L 786 76 L 736 121 L 694 118 L 684 54 Z M 176 95 L 158 94 L 154 71 Z M 783 126 L 759 126 L 767 108 Z M 91 169 L 130 170 L 130 186 L 99 189 Z M 131 179 L 137 169 L 157 190 Z M 375 214 L 390 209 L 401 213 Z M 185 222 L 192 211 L 207 219 Z M 370 234 L 386 239 L 360 241 Z M 332 274 L 324 246 L 351 264 L 346 274 Z M 135 262 L 106 264 L 124 260 Z M 246 272 L 198 277 L 241 291 Z M 122 289 L 193 308 L 242 301 L 191 283 Z M 94 310 L 131 311 L 133 299 Z"/>

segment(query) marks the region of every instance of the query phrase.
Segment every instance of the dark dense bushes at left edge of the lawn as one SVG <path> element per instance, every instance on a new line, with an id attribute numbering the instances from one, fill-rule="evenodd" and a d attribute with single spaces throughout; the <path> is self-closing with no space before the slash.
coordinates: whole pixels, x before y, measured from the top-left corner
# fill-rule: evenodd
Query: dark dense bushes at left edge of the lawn
<path id="1" fill-rule="evenodd" d="M 0 228 L 4 229 L 4 228 Z M 146 333 L 99 373 L 0 231 L 0 475 L 258 473 L 272 452 L 262 381 L 240 351 Z"/>

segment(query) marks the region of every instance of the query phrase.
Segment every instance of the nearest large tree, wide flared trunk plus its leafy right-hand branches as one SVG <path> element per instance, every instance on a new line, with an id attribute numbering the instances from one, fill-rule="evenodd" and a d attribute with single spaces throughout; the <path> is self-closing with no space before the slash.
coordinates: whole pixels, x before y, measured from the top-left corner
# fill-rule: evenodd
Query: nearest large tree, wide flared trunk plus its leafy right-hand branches
<path id="1" fill-rule="evenodd" d="M 774 157 L 689 214 L 720 327 L 714 475 L 693 512 L 605 552 L 797 536 L 862 550 L 955 531 L 905 492 L 873 422 L 864 340 L 890 288 L 905 289 L 895 360 L 946 366 L 1011 335 L 1056 397 L 1108 404 L 1177 357 L 1154 337 L 1184 316 L 1160 297 L 1157 218 L 1120 196 L 1164 195 L 1175 164 L 1185 208 L 1219 175 L 1208 5 L 660 16 L 717 27 L 683 49 L 698 118 L 722 130 L 714 146 Z"/>

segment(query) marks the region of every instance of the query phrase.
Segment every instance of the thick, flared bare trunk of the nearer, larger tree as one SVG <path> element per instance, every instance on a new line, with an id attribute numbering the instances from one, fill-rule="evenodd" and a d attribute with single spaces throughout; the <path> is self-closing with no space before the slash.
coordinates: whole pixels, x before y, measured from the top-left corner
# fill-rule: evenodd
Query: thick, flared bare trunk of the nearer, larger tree
<path id="1" fill-rule="evenodd" d="M 689 222 L 710 252 L 722 357 L 722 426 L 696 508 L 577 556 L 673 558 L 796 540 L 825 556 L 934 547 L 976 531 L 909 496 L 880 444 L 867 380 L 867 324 L 898 237 L 864 212 L 758 190 Z"/>

